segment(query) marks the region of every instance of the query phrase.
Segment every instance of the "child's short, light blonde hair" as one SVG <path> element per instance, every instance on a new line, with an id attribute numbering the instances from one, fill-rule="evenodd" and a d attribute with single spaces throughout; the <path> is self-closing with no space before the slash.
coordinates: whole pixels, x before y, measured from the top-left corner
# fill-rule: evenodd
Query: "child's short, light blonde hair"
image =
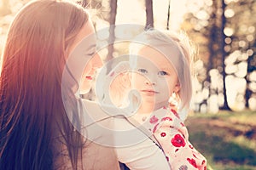
<path id="1" fill-rule="evenodd" d="M 169 59 L 175 70 L 181 86 L 177 94 L 180 99 L 180 111 L 188 111 L 192 97 L 191 73 L 192 60 L 194 57 L 194 46 L 189 37 L 183 32 L 176 33 L 173 31 L 148 30 L 135 38 L 130 44 L 130 65 L 137 65 L 138 52 L 145 46 L 158 50 L 161 54 Z M 177 54 L 177 56 L 173 56 Z"/>

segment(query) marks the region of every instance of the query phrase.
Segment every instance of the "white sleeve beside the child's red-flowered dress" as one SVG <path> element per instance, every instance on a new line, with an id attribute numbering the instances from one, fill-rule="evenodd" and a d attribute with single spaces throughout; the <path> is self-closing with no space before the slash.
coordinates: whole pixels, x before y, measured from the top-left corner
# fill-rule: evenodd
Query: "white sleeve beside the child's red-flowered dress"
<path id="1" fill-rule="evenodd" d="M 163 151 L 160 150 L 160 148 L 156 144 L 154 144 L 154 142 L 149 139 L 146 134 L 142 133 L 136 127 L 132 127 L 129 122 L 122 119 L 115 120 L 115 127 L 122 130 L 123 133 L 125 133 L 125 130 L 128 130 L 129 128 L 133 128 L 133 130 L 135 130 L 134 132 L 129 132 L 126 135 L 115 136 L 115 138 L 119 138 L 116 139 L 119 141 L 119 144 L 120 141 L 124 142 L 124 140 L 126 142 L 134 142 L 133 144 L 130 143 L 130 145 L 126 143 L 126 146 L 115 148 L 116 154 L 120 162 L 125 163 L 125 165 L 131 170 L 171 169 Z M 141 136 L 142 138 L 138 136 Z M 137 139 L 143 140 L 140 140 L 141 142 L 137 142 L 135 144 L 135 141 L 137 141 Z"/>

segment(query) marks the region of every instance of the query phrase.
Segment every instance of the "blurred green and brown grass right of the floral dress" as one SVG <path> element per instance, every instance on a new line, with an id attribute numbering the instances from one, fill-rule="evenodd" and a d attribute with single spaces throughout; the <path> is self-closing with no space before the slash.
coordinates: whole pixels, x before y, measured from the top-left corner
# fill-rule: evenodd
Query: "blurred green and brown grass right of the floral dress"
<path id="1" fill-rule="evenodd" d="M 189 140 L 207 157 L 208 169 L 256 170 L 256 112 L 194 114 Z"/>

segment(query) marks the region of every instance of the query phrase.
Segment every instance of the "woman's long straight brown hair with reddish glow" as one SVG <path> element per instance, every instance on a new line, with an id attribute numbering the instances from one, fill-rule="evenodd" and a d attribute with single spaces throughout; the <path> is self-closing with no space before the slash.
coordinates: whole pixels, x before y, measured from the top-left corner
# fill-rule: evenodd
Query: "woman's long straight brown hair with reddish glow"
<path id="1" fill-rule="evenodd" d="M 39 0 L 9 27 L 0 77 L 0 169 L 53 169 L 54 138 L 64 135 L 73 169 L 81 136 L 61 99 L 67 54 L 88 14 L 78 5 Z"/>

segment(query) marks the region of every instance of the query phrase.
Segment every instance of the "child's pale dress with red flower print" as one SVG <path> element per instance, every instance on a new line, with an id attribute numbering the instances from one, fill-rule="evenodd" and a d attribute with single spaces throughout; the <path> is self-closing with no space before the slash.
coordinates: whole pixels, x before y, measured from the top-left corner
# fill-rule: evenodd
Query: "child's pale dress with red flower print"
<path id="1" fill-rule="evenodd" d="M 206 158 L 190 144 L 188 130 L 177 111 L 166 107 L 154 111 L 145 125 L 164 150 L 172 170 L 207 169 Z"/>

